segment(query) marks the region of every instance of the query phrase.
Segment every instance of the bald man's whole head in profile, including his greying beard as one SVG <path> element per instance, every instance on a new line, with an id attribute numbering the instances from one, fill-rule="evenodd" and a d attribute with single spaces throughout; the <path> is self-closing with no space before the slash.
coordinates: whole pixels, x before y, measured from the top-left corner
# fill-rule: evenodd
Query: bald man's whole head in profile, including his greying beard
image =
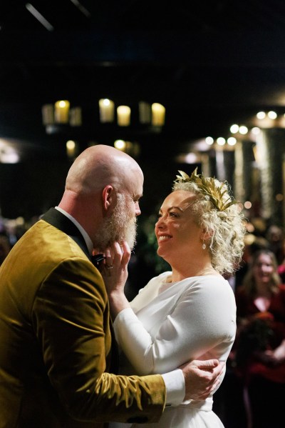
<path id="1" fill-rule="evenodd" d="M 132 247 L 142 187 L 137 162 L 123 151 L 99 144 L 73 162 L 58 208 L 81 224 L 94 249 L 103 252 L 125 239 Z"/>

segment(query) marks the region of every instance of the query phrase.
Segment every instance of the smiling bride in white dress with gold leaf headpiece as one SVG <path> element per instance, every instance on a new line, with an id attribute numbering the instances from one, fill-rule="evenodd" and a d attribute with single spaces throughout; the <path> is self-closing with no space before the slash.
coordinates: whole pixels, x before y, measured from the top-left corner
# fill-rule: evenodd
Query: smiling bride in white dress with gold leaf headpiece
<path id="1" fill-rule="evenodd" d="M 242 257 L 244 217 L 226 182 L 197 174 L 197 169 L 191 176 L 180 174 L 155 224 L 157 254 L 170 264 L 170 272 L 152 278 L 129 303 L 124 285 L 130 248 L 116 242 L 105 254 L 105 266 L 113 266 L 102 274 L 122 374 L 163 373 L 192 359 L 226 362 L 234 343 L 236 305 L 222 274 L 234 272 Z M 160 422 L 138 426 L 222 428 L 212 402 L 210 395 L 166 407 Z"/>

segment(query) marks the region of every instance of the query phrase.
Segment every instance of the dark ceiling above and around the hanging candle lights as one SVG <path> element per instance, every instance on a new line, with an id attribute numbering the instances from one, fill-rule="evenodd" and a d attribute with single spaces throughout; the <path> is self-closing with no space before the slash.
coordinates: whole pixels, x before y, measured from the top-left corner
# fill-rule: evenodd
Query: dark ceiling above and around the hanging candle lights
<path id="1" fill-rule="evenodd" d="M 106 144 L 117 130 L 98 123 L 98 99 L 160 102 L 162 133 L 130 138 L 173 152 L 260 109 L 285 111 L 284 0 L 6 0 L 0 26 L 0 137 L 23 148 L 58 144 L 41 124 L 58 99 L 81 105 L 79 132 Z"/>

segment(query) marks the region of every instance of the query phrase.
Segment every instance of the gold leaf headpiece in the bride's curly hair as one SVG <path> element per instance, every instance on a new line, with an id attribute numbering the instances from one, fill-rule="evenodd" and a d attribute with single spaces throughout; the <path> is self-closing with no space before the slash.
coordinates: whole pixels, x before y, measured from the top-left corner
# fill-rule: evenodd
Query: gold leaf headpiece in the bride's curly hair
<path id="1" fill-rule="evenodd" d="M 227 188 L 223 189 L 225 181 L 220 186 L 217 186 L 214 178 L 197 174 L 197 168 L 195 168 L 191 176 L 184 171 L 178 170 L 178 172 L 180 172 L 180 175 L 177 175 L 177 179 L 175 180 L 177 183 L 189 183 L 191 181 L 195 183 L 202 194 L 209 196 L 209 200 L 218 211 L 224 211 L 229 206 L 237 204 L 237 201 L 230 196 L 225 201 L 223 200 L 224 194 L 227 193 Z"/>

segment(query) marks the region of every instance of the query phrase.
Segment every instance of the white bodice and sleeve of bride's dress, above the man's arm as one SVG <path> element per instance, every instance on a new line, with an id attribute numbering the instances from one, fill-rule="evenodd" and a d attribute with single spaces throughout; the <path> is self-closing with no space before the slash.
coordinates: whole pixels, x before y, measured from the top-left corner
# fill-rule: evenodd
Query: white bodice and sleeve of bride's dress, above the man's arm
<path id="1" fill-rule="evenodd" d="M 138 317 L 128 308 L 114 322 L 118 344 L 138 374 L 170 372 L 192 359 L 227 359 L 236 307 L 222 277 L 188 278 L 156 294 Z"/>

